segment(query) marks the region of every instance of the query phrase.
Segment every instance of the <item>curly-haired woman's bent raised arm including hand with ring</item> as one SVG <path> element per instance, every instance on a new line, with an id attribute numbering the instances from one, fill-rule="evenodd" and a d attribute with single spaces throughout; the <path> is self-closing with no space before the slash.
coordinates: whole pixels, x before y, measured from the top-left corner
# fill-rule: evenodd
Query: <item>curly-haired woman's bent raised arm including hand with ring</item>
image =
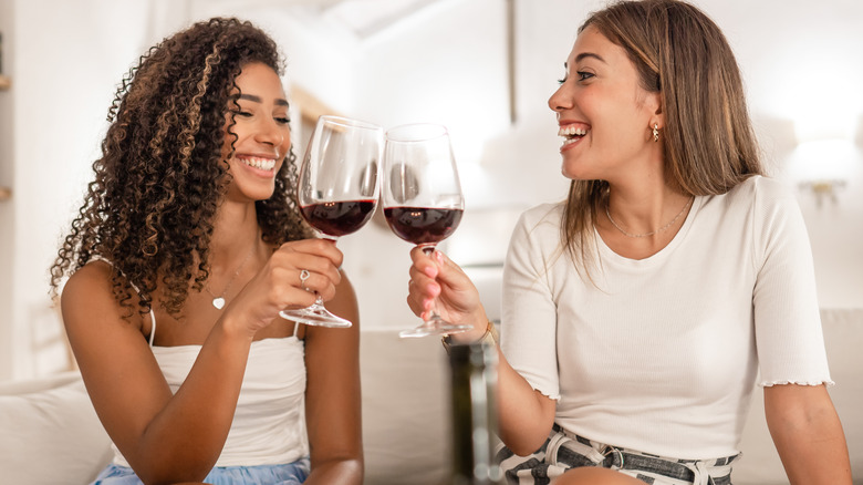
<path id="1" fill-rule="evenodd" d="M 227 438 L 258 330 L 278 311 L 305 306 L 299 288 L 310 268 L 314 289 L 331 298 L 341 279 L 341 254 L 325 241 L 298 241 L 273 254 L 264 268 L 225 307 L 175 395 L 142 334 L 144 318 L 124 320 L 114 299 L 111 268 L 87 265 L 63 290 L 63 319 L 96 413 L 111 438 L 147 484 L 200 482 Z"/>

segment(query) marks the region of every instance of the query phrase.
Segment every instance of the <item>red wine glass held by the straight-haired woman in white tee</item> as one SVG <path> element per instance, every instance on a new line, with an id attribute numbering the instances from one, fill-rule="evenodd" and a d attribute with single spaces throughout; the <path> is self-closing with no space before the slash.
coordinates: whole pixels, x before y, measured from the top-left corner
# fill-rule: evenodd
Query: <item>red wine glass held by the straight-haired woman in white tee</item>
<path id="1" fill-rule="evenodd" d="M 456 230 L 465 210 L 465 198 L 445 126 L 417 123 L 386 132 L 383 204 L 393 233 L 419 246 L 427 255 Z M 398 334 L 425 337 L 470 329 L 470 326 L 447 322 L 433 307 L 428 320 Z"/>

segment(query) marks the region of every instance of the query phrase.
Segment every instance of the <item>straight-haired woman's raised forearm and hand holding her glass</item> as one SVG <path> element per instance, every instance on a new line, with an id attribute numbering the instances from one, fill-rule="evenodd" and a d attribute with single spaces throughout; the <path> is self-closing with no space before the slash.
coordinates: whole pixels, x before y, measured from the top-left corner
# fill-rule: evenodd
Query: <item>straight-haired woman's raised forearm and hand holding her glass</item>
<path id="1" fill-rule="evenodd" d="M 414 248 L 410 256 L 408 305 L 416 314 L 430 310 L 438 298 L 440 316 L 455 323 L 472 324 L 474 329 L 451 336 L 454 343 L 475 342 L 482 338 L 488 324 L 486 310 L 476 287 L 465 272 L 441 252 L 429 258 Z M 542 446 L 554 424 L 557 401 L 534 391 L 507 361 L 498 347 L 498 411 L 500 438 L 512 452 L 528 455 Z"/>

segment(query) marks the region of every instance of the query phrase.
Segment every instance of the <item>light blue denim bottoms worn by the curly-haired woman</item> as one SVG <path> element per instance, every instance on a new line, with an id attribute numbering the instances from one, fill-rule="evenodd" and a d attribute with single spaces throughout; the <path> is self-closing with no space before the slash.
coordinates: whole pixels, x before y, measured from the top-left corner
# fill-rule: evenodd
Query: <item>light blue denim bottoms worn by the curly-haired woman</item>
<path id="1" fill-rule="evenodd" d="M 204 478 L 212 485 L 299 485 L 305 482 L 309 458 L 285 465 L 217 466 Z M 92 485 L 144 485 L 127 466 L 108 465 Z"/>

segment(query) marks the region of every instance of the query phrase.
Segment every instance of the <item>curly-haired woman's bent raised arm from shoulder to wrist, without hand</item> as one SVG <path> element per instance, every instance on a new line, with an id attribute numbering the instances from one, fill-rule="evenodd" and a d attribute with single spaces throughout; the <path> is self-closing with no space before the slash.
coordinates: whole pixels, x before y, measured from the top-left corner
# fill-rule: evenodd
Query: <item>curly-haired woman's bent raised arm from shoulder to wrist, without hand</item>
<path id="1" fill-rule="evenodd" d="M 62 307 L 102 424 L 144 483 L 202 479 L 227 437 L 248 344 L 217 326 L 196 367 L 219 372 L 200 379 L 190 373 L 188 385 L 173 396 L 141 332 L 142 318 L 122 319 L 125 309 L 111 292 L 110 269 L 93 266 L 70 279 Z"/>

